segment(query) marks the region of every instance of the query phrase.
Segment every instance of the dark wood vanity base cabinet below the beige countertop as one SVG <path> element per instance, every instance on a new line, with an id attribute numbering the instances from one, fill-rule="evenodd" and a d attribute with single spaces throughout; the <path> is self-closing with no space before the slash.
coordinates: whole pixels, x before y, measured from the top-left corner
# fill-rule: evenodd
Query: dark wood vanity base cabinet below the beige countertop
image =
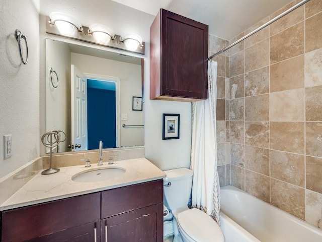
<path id="1" fill-rule="evenodd" d="M 163 180 L 3 211 L 2 242 L 163 241 Z"/>

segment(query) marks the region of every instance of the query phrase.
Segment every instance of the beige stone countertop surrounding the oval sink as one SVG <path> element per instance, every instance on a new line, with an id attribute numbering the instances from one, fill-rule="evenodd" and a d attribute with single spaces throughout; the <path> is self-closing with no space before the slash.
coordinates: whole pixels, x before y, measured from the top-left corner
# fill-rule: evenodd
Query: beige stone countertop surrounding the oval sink
<path id="1" fill-rule="evenodd" d="M 118 177 L 93 183 L 79 183 L 71 179 L 78 172 L 113 166 L 121 167 L 126 171 Z M 59 172 L 50 175 L 42 175 L 40 171 L 25 186 L 1 204 L 0 211 L 144 183 L 164 177 L 166 177 L 166 173 L 145 158 L 114 161 L 114 164 L 111 165 L 103 162 L 102 166 L 97 166 L 97 163 L 94 163 L 91 167 L 84 165 L 61 167 Z"/>

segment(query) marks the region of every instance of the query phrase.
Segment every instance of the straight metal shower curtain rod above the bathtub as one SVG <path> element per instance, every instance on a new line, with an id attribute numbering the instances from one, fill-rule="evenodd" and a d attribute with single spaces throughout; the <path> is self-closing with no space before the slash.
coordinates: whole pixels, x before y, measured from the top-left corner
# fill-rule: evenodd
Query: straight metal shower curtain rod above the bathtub
<path id="1" fill-rule="evenodd" d="M 265 24 L 261 25 L 260 27 L 258 27 L 257 29 L 253 30 L 252 32 L 248 33 L 247 35 L 245 35 L 244 37 L 236 40 L 235 42 L 233 42 L 232 44 L 228 45 L 227 47 L 219 50 L 217 53 L 211 55 L 208 57 L 208 61 L 211 60 L 211 58 L 215 57 L 218 54 L 223 53 L 224 51 L 230 49 L 231 47 L 235 46 L 236 44 L 240 43 L 241 41 L 243 41 L 244 39 L 247 39 L 248 37 L 250 37 L 251 35 L 257 33 L 258 31 L 260 31 L 261 29 L 264 29 L 265 27 L 267 27 L 268 25 L 270 25 L 271 23 L 275 22 L 276 20 L 282 18 L 283 16 L 287 15 L 288 13 L 292 12 L 293 10 L 297 9 L 298 7 L 302 6 L 303 4 L 307 3 L 310 0 L 302 0 L 301 2 L 295 4 L 293 7 L 289 8 L 288 10 L 284 11 L 283 13 L 279 14 L 278 16 L 276 16 L 275 18 L 271 19 L 270 21 L 266 22 Z"/>

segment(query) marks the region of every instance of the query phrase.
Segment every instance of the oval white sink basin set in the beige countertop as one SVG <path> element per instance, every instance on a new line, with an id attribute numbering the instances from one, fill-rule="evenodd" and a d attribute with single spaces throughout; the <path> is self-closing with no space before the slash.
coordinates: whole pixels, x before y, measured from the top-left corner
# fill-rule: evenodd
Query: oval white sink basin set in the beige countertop
<path id="1" fill-rule="evenodd" d="M 95 168 L 87 171 L 79 172 L 71 177 L 77 183 L 95 183 L 95 181 L 102 181 L 118 177 L 125 173 L 125 169 L 121 167 L 104 167 Z"/>

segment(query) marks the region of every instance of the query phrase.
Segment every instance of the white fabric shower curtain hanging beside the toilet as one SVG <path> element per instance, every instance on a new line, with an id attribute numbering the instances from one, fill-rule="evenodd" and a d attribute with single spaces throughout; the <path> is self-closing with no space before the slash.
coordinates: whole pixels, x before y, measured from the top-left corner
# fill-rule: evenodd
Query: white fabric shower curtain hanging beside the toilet
<path id="1" fill-rule="evenodd" d="M 191 163 L 192 207 L 219 221 L 217 172 L 216 98 L 217 62 L 208 62 L 208 99 L 192 103 Z"/>

